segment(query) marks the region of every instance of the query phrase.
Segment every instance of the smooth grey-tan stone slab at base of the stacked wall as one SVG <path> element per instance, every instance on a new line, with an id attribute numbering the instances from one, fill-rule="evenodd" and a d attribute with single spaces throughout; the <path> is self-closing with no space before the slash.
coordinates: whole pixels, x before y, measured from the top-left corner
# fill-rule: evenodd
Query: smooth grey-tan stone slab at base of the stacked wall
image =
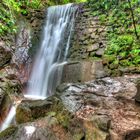
<path id="1" fill-rule="evenodd" d="M 85 82 L 106 76 L 102 61 L 69 62 L 64 65 L 62 83 Z"/>

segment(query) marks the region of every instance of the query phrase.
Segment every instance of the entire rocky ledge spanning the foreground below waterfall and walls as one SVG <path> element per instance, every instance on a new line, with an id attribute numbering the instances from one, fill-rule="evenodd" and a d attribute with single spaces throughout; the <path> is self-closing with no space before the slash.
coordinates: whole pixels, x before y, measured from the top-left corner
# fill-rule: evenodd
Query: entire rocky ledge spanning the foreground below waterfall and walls
<path id="1" fill-rule="evenodd" d="M 46 100 L 23 100 L 17 125 L 1 132 L 0 139 L 137 140 L 139 79 L 133 75 L 66 83 Z"/>

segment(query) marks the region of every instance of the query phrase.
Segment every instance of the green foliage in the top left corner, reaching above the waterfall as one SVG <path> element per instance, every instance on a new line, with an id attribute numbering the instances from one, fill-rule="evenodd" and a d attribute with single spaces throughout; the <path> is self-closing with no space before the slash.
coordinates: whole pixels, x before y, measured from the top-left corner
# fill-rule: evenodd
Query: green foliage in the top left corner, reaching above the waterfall
<path id="1" fill-rule="evenodd" d="M 0 3 L 0 36 L 17 32 L 17 17 L 27 16 L 31 10 L 43 7 L 84 2 L 85 0 L 2 0 Z"/>

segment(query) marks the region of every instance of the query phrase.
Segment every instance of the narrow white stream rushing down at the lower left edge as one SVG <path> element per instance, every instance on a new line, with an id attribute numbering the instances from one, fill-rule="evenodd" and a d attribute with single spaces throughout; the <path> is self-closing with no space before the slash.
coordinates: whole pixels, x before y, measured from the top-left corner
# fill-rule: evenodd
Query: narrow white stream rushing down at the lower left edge
<path id="1" fill-rule="evenodd" d="M 4 120 L 0 131 L 3 131 L 4 129 L 6 129 L 7 127 L 9 127 L 9 125 L 11 124 L 12 120 L 14 119 L 14 116 L 16 114 L 16 107 L 13 105 L 6 117 L 6 119 Z"/>

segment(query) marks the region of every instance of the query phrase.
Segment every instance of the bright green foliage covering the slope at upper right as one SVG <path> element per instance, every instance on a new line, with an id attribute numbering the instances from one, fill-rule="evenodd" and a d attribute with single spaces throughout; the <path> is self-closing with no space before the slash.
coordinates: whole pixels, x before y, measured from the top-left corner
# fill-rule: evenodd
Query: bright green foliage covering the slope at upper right
<path id="1" fill-rule="evenodd" d="M 140 65 L 140 1 L 88 0 L 94 16 L 107 26 L 106 59 L 114 66 Z"/>

